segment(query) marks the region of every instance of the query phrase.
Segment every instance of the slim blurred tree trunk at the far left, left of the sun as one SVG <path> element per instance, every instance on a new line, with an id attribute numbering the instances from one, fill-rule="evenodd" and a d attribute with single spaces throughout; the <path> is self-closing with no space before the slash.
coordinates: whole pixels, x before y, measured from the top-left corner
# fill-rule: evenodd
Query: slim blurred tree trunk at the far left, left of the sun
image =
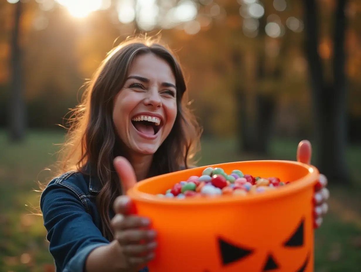
<path id="1" fill-rule="evenodd" d="M 9 97 L 9 136 L 12 141 L 21 141 L 25 134 L 25 102 L 23 98 L 21 49 L 19 45 L 22 2 L 18 1 L 15 5 L 14 29 L 11 44 L 12 76 Z"/>

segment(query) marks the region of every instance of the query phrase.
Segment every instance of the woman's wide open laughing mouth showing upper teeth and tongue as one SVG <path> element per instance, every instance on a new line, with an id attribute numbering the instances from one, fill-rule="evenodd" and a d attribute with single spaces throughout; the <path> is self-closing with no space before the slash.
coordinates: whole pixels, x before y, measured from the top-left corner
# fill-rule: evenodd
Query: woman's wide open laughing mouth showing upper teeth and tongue
<path id="1" fill-rule="evenodd" d="M 150 138 L 154 138 L 163 126 L 161 118 L 148 115 L 137 115 L 131 119 L 131 123 L 139 133 Z"/>

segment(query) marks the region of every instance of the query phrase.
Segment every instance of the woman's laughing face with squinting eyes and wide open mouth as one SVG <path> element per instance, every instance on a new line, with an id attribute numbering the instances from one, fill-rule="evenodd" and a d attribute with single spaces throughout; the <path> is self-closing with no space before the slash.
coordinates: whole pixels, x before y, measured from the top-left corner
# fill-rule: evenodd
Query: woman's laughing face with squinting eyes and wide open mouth
<path id="1" fill-rule="evenodd" d="M 177 116 L 176 92 L 165 60 L 152 53 L 135 58 L 113 109 L 117 133 L 130 151 L 145 155 L 157 151 Z"/>

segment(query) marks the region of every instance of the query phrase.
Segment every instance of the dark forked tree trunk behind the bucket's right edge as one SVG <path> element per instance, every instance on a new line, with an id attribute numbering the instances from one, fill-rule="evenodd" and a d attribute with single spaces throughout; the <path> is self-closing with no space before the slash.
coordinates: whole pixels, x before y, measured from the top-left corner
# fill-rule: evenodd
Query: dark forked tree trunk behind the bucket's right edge
<path id="1" fill-rule="evenodd" d="M 346 75 L 344 14 L 346 0 L 338 0 L 334 20 L 333 82 L 326 82 L 318 54 L 318 7 L 304 0 L 306 56 L 312 88 L 317 139 L 317 167 L 332 182 L 348 179 L 346 165 Z"/>

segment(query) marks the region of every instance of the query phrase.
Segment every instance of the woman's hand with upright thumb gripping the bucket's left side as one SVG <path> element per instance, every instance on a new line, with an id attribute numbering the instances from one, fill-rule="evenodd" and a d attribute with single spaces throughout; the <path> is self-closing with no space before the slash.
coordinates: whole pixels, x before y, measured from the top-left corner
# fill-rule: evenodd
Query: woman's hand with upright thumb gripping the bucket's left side
<path id="1" fill-rule="evenodd" d="M 124 157 L 114 159 L 114 168 L 119 176 L 122 191 L 126 193 L 137 182 L 134 169 Z M 154 258 L 156 232 L 149 229 L 150 220 L 131 214 L 132 203 L 129 197 L 121 195 L 114 201 L 112 219 L 114 239 L 118 241 L 124 268 L 129 271 L 138 271 L 147 262 Z"/>

